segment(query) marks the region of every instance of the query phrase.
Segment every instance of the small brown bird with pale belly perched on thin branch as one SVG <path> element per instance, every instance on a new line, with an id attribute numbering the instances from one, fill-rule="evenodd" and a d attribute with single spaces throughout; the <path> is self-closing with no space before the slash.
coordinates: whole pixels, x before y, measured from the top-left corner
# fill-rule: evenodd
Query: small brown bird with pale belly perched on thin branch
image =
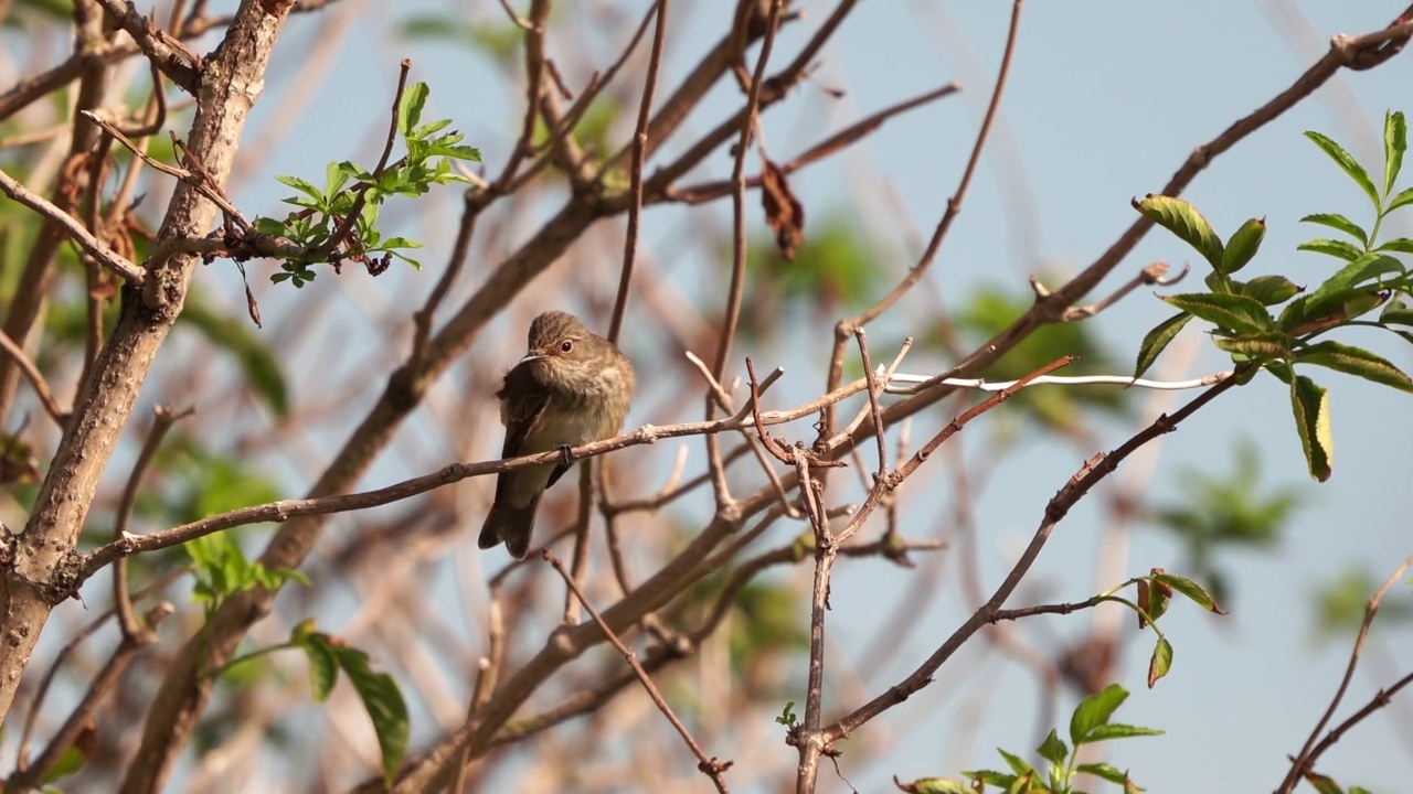
<path id="1" fill-rule="evenodd" d="M 519 458 L 612 438 L 633 401 L 633 365 L 617 346 L 584 328 L 571 314 L 544 312 L 530 324 L 528 352 L 506 373 L 500 422 L 506 425 L 502 458 Z M 544 490 L 572 462 L 547 463 L 496 479 L 496 499 L 480 527 L 480 548 L 504 541 L 524 559 L 534 511 Z"/>

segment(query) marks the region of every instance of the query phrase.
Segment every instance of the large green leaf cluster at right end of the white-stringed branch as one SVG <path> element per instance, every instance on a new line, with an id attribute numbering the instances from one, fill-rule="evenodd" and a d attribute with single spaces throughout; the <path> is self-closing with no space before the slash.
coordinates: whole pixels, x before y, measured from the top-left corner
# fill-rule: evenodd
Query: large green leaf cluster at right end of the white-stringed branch
<path id="1" fill-rule="evenodd" d="M 1341 264 L 1314 290 L 1297 285 L 1280 274 L 1249 281 L 1235 277 L 1256 256 L 1266 235 L 1263 219 L 1242 223 L 1225 242 L 1197 209 L 1171 196 L 1149 195 L 1133 206 L 1195 249 L 1211 266 L 1207 292 L 1163 297 L 1178 314 L 1160 322 L 1139 345 L 1135 377 L 1143 374 L 1163 349 L 1193 318 L 1212 324 L 1212 342 L 1232 356 L 1236 377 L 1249 381 L 1267 372 L 1290 387 L 1296 431 L 1310 475 L 1327 480 L 1332 472 L 1334 438 L 1330 425 L 1330 394 L 1296 366 L 1318 366 L 1354 374 L 1400 391 L 1413 393 L 1413 379 L 1382 356 L 1335 342 L 1317 340 L 1331 331 L 1349 326 L 1382 328 L 1413 343 L 1413 277 L 1395 254 L 1413 253 L 1413 239 L 1379 242 L 1379 227 L 1392 212 L 1413 203 L 1413 188 L 1395 192 L 1407 126 L 1403 113 L 1388 113 L 1383 124 L 1383 172 L 1375 185 L 1369 171 L 1334 140 L 1307 131 L 1325 155 L 1359 186 L 1373 205 L 1369 230 L 1338 213 L 1314 213 L 1301 219 L 1344 233 L 1344 239 L 1314 239 L 1300 250 L 1334 257 Z M 1275 314 L 1275 307 L 1282 307 Z M 1361 319 L 1383 307 L 1376 321 Z"/>

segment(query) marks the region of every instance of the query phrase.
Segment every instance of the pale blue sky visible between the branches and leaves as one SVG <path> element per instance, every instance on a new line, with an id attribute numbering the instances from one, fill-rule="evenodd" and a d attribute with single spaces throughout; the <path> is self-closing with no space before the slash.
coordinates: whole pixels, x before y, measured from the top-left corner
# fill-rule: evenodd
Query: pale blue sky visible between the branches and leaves
<path id="1" fill-rule="evenodd" d="M 349 4 L 373 7 L 353 0 Z M 397 4 L 396 11 L 383 8 L 383 13 L 355 21 L 331 61 L 326 82 L 297 102 L 302 113 L 294 120 L 294 131 L 278 147 L 253 150 L 260 146 L 260 130 L 281 112 L 281 100 L 298 95 L 283 75 L 292 73 L 326 32 L 318 25 L 328 23 L 292 20 L 267 81 L 267 93 L 246 133 L 243 155 L 260 151 L 264 158 L 254 178 L 240 189 L 239 202 L 253 212 L 268 212 L 284 189 L 263 177 L 317 175 L 331 157 L 367 153 L 383 129 L 384 96 L 396 82 L 397 61 L 403 57 L 414 59 L 414 79 L 427 81 L 432 88 L 430 114 L 455 119 L 468 134 L 468 143 L 482 147 L 495 168 L 510 144 L 506 119 L 514 90 L 499 85 L 497 73 L 479 58 L 447 45 L 410 44 L 398 38 L 387 18 L 390 13 L 445 11 L 452 6 L 456 4 L 410 0 Z M 575 13 L 572 4 L 564 6 L 562 13 Z M 602 10 L 608 4 L 586 6 Z M 625 18 L 636 20 L 640 6 L 643 3 L 633 3 Z M 715 35 L 718 11 L 725 6 L 725 1 L 719 6 L 674 3 L 674 47 L 664 66 L 664 85 L 684 73 L 692 62 L 691 55 L 705 47 L 705 37 Z M 793 55 L 831 7 L 817 1 L 800 6 L 808 16 L 781 34 L 780 61 Z M 1039 270 L 1082 268 L 1132 222 L 1132 196 L 1160 189 L 1194 146 L 1215 137 L 1236 117 L 1287 88 L 1323 54 L 1330 35 L 1376 30 L 1402 10 L 1396 3 L 1371 0 L 1307 1 L 1296 8 L 1294 3 L 1276 0 L 1029 3 L 992 148 L 928 277 L 942 300 L 959 301 L 981 283 L 1019 287 Z M 910 264 L 910 226 L 930 230 L 955 188 L 989 96 L 1009 10 L 1010 6 L 1000 1 L 865 3 L 836 42 L 821 54 L 814 78 L 818 85 L 845 89 L 845 97 L 831 100 L 807 86 L 779 113 L 766 117 L 771 150 L 788 155 L 818 140 L 821 129 L 842 127 L 952 79 L 965 83 L 962 96 L 894 119 L 838 161 L 793 181 L 812 216 L 824 216 L 827 211 L 856 213 L 882 240 L 880 250 L 892 251 L 880 263 L 880 270 L 889 274 L 889 285 Z M 479 18 L 497 18 L 499 13 L 495 3 L 482 3 L 472 11 Z M 554 44 L 551 38 L 551 47 Z M 612 55 L 612 42 L 589 41 L 586 47 L 599 62 Z M 1194 202 L 1224 236 L 1248 218 L 1266 218 L 1269 233 L 1253 268 L 1279 270 L 1301 283 L 1321 278 L 1330 271 L 1330 260 L 1296 251 L 1299 242 L 1317 236 L 1311 227 L 1297 223 L 1299 218 L 1311 212 L 1344 212 L 1366 222 L 1369 211 L 1362 195 L 1304 140 L 1301 131 L 1321 130 L 1347 143 L 1359 158 L 1376 162 L 1378 124 L 1385 110 L 1413 112 L 1407 105 L 1413 78 L 1410 58 L 1413 55 L 1403 54 L 1372 72 L 1338 75 L 1313 99 L 1217 160 L 1184 198 Z M 694 116 L 695 129 L 705 129 L 736 102 L 733 93 L 714 93 Z M 712 162 L 715 172 L 729 168 L 723 165 L 723 155 Z M 906 208 L 906 215 L 897 206 L 858 202 L 851 185 L 863 178 L 893 185 L 897 206 Z M 714 212 L 725 213 L 726 208 Z M 442 205 L 407 219 L 408 233 L 428 242 L 424 261 L 438 264 L 420 277 L 404 278 L 421 278 L 430 288 L 451 244 L 451 218 Z M 725 215 L 719 218 L 726 222 Z M 647 254 L 671 257 L 671 236 L 680 223 L 680 211 L 649 212 L 643 236 Z M 760 219 L 753 216 L 752 223 L 759 232 Z M 1407 223 L 1399 222 L 1386 232 L 1407 233 Z M 1200 264 L 1174 237 L 1154 232 L 1105 288 L 1156 259 L 1191 261 L 1194 268 Z M 229 280 L 215 274 L 215 268 L 202 270 L 198 277 Z M 391 284 L 407 287 L 401 280 Z M 698 287 L 684 285 L 688 291 Z M 422 294 L 424 288 L 413 287 L 413 291 Z M 722 300 L 719 290 L 698 294 L 702 301 Z M 267 291 L 261 295 L 261 308 L 266 318 L 271 318 L 298 311 L 298 300 L 291 290 Z M 1137 338 L 1169 314 L 1152 291 L 1139 291 L 1091 322 L 1116 355 L 1128 360 Z M 1405 369 L 1413 367 L 1413 350 L 1407 346 L 1388 346 L 1373 338 L 1354 339 L 1375 346 Z M 1186 374 L 1178 373 L 1181 377 L 1226 367 L 1224 357 L 1204 340 L 1198 338 L 1194 343 L 1195 359 Z M 793 397 L 810 394 L 820 381 L 825 357 L 821 349 L 803 346 L 742 350 L 742 355 L 753 353 L 801 360 L 779 390 Z M 918 359 L 910 365 L 927 369 L 944 367 L 945 362 Z M 1235 438 L 1256 439 L 1266 483 L 1297 483 L 1313 493 L 1311 504 L 1289 528 L 1279 551 L 1235 555 L 1226 561 L 1226 568 L 1236 575 L 1232 615 L 1218 619 L 1177 608 L 1164 619 L 1176 661 L 1171 675 L 1156 689 L 1143 685 L 1150 636 L 1137 637 L 1128 646 L 1118 682 L 1133 695 L 1119 718 L 1161 728 L 1167 736 L 1121 743 L 1109 760 L 1133 770 L 1137 781 L 1157 794 L 1275 788 L 1284 773 L 1286 756 L 1299 749 L 1324 709 L 1347 660 L 1347 643 L 1321 651 L 1310 640 L 1313 588 L 1351 564 L 1366 565 L 1382 579 L 1413 552 L 1407 496 L 1402 492 L 1409 470 L 1406 451 L 1413 441 L 1413 424 L 1407 421 L 1410 398 L 1349 377 L 1325 377 L 1332 391 L 1335 473 L 1330 483 L 1316 486 L 1306 473 L 1284 393 L 1273 380 L 1266 380 L 1224 396 L 1177 434 L 1164 438 L 1157 451 L 1147 489 L 1156 502 L 1181 499 L 1174 475 L 1183 468 L 1212 473 L 1229 470 Z M 697 418 L 697 403 L 691 404 L 678 421 Z M 637 414 L 629 418 L 630 425 L 643 421 L 647 420 Z M 988 432 L 988 427 L 981 425 L 962 434 L 968 459 L 985 455 L 985 445 L 992 438 Z M 1115 446 L 1129 432 L 1132 428 L 1104 425 L 1099 448 Z M 1094 451 L 1098 448 L 1089 452 Z M 485 456 L 493 452 L 487 448 Z M 1046 500 L 1087 454 L 1072 446 L 1039 444 L 1000 463 L 975 506 L 979 576 L 988 592 L 1029 540 Z M 694 451 L 694 455 L 699 454 Z M 384 462 L 367 476 L 366 485 L 383 485 L 401 476 L 407 472 Z M 1102 499 L 1104 493 L 1101 489 L 1094 499 Z M 926 492 L 906 497 L 906 516 L 920 534 L 947 514 L 947 507 L 934 503 Z M 1043 583 L 1048 599 L 1078 600 L 1099 588 L 1094 581 L 1099 519 L 1094 503 L 1081 506 L 1046 548 L 1033 578 Z M 466 543 L 471 543 L 469 534 Z M 1126 574 L 1153 567 L 1176 571 L 1180 562 L 1181 551 L 1167 538 L 1139 530 L 1132 535 L 1123 569 Z M 862 687 L 851 689 L 851 695 L 872 697 L 894 682 L 964 617 L 954 567 L 945 565 L 941 575 L 945 578 L 944 595 L 930 605 L 918 629 L 892 661 L 875 668 L 870 658 L 876 648 L 861 646 L 872 639 L 877 615 L 892 612 L 909 579 L 882 564 L 841 567 L 832 596 L 831 664 L 859 674 Z M 1020 605 L 1019 599 L 1012 603 Z M 1017 630 L 1044 651 L 1054 647 L 1047 643 L 1082 633 L 1092 619 L 1092 615 L 1037 619 L 1046 622 L 1046 629 L 1031 632 L 1022 626 Z M 800 620 L 805 623 L 804 612 Z M 1126 617 L 1125 624 L 1130 626 Z M 1132 627 L 1126 632 L 1132 633 Z M 1406 632 L 1402 636 L 1376 633 L 1373 643 L 1383 648 L 1379 653 L 1386 651 L 1395 660 L 1392 670 L 1402 672 L 1413 665 L 1413 637 Z M 982 653 L 991 653 L 983 647 L 978 640 L 958 658 L 955 668 L 974 668 Z M 1356 675 L 1341 713 L 1364 704 L 1379 684 L 1386 682 Z M 868 726 L 869 742 L 863 736 L 853 742 L 861 750 L 845 747 L 845 774 L 861 791 L 880 791 L 894 774 L 907 780 L 998 766 L 1000 762 L 992 747 L 1029 750 L 1034 745 L 1036 688 L 1033 675 L 1013 663 L 995 665 L 985 675 L 974 670 L 954 672 L 950 665 L 937 684 Z M 842 702 L 855 705 L 846 698 Z M 1060 708 L 1061 721 L 1070 708 L 1072 699 L 1067 698 Z M 1413 708 L 1407 697 L 1395 708 L 1402 709 L 1406 725 Z M 1385 716 L 1368 721 L 1324 757 L 1321 769 L 1345 784 L 1358 783 L 1385 793 L 1407 790 L 1413 759 L 1406 753 L 1406 743 L 1396 739 L 1396 726 Z M 876 754 L 877 743 L 889 752 Z M 869 749 L 863 752 L 862 747 Z M 791 754 L 783 745 L 779 750 L 781 757 Z M 715 752 L 731 754 L 726 747 Z M 865 763 L 863 756 L 869 756 L 870 763 Z M 832 774 L 825 774 L 821 791 L 846 788 Z"/>

